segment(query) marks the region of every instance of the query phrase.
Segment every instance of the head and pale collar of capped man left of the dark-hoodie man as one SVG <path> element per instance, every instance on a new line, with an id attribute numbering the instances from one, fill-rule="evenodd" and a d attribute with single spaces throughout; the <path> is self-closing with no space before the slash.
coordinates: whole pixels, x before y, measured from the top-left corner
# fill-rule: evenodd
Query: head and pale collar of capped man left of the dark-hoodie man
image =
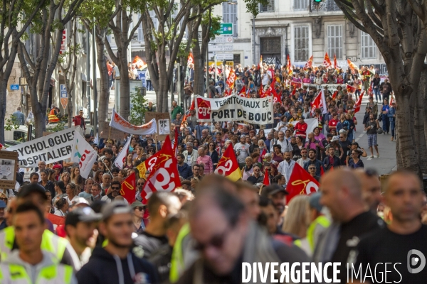
<path id="1" fill-rule="evenodd" d="M 80 265 L 88 263 L 97 239 L 96 222 L 102 215 L 90 207 L 76 208 L 65 217 L 65 233 L 77 254 Z M 80 269 L 80 268 L 78 268 Z"/>

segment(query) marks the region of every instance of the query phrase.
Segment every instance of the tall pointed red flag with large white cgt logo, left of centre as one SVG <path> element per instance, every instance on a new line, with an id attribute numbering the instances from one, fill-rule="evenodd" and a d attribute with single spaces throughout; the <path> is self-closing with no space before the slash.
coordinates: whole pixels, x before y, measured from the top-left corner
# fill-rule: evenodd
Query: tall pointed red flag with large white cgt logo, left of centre
<path id="1" fill-rule="evenodd" d="M 172 151 L 171 139 L 166 136 L 166 141 L 159 151 L 157 162 L 142 189 L 142 202 L 147 204 L 147 200 L 153 192 L 173 192 L 179 186 L 181 186 L 181 181 L 179 180 L 178 162 L 174 151 Z"/>

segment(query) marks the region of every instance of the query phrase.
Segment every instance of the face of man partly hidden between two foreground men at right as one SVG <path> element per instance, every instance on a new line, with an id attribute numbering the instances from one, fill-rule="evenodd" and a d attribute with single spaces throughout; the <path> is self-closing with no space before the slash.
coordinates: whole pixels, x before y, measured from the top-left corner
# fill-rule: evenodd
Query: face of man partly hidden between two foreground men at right
<path id="1" fill-rule="evenodd" d="M 378 205 L 382 201 L 379 174 L 373 169 L 355 170 L 354 173 L 362 182 L 362 198 L 367 209 L 376 214 Z"/>

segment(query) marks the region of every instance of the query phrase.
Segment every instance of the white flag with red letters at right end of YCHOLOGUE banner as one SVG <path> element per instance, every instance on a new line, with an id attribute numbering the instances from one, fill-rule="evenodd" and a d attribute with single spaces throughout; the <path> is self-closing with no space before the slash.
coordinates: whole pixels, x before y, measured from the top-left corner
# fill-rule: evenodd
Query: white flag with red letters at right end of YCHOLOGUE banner
<path id="1" fill-rule="evenodd" d="M 78 168 L 80 169 L 80 175 L 82 178 L 88 178 L 90 171 L 92 170 L 92 165 L 95 163 L 97 158 L 97 153 L 85 141 L 85 138 L 76 131 L 74 133 L 74 142 L 73 142 L 73 152 L 71 152 L 71 161 L 73 163 L 78 163 Z"/>

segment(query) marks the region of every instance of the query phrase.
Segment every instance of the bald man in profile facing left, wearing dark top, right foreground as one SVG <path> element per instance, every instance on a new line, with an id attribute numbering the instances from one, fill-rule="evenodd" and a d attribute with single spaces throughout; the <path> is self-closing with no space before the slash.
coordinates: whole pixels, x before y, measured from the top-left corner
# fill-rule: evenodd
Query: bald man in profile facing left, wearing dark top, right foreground
<path id="1" fill-rule="evenodd" d="M 362 198 L 362 183 L 349 169 L 333 170 L 320 180 L 322 197 L 333 224 L 319 236 L 315 246 L 315 262 L 341 263 L 338 278 L 347 283 L 347 258 L 349 252 L 359 244 L 360 238 L 384 226 L 384 222 L 367 210 Z M 332 269 L 328 270 L 332 277 Z"/>

